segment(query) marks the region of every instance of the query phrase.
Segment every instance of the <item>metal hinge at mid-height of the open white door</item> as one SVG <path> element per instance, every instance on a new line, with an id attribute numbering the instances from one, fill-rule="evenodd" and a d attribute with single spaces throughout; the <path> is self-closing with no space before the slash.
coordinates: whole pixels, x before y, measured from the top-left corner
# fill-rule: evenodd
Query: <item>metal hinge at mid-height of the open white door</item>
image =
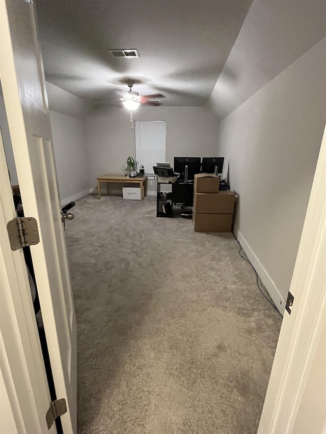
<path id="1" fill-rule="evenodd" d="M 34 246 L 40 242 L 37 221 L 34 217 L 16 217 L 7 223 L 11 250 Z"/>

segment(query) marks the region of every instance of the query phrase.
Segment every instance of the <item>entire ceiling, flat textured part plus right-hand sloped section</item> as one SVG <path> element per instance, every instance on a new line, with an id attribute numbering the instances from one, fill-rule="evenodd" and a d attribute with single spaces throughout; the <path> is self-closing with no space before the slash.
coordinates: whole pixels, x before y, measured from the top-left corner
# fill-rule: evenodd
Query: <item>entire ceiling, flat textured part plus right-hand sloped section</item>
<path id="1" fill-rule="evenodd" d="M 206 105 L 220 119 L 326 34 L 324 0 L 36 0 L 36 6 L 48 82 L 119 106 L 124 80 L 133 78 L 133 90 L 161 93 L 162 105 Z M 136 48 L 140 58 L 108 53 L 118 48 Z"/>

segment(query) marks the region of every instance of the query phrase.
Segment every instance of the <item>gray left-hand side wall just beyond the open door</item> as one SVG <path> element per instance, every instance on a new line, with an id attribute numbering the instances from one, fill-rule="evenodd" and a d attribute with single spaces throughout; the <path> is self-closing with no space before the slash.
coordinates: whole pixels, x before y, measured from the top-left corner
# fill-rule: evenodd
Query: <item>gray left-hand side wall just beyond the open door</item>
<path id="1" fill-rule="evenodd" d="M 56 111 L 50 121 L 63 204 L 89 193 L 84 121 Z"/>

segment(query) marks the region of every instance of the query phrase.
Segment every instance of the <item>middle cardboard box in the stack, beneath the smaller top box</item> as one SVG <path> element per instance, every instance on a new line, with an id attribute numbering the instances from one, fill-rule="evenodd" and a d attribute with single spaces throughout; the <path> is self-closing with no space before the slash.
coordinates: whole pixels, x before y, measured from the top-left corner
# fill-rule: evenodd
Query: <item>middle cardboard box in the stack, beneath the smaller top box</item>
<path id="1" fill-rule="evenodd" d="M 233 214 L 235 194 L 230 190 L 195 193 L 194 212 L 199 214 Z"/>

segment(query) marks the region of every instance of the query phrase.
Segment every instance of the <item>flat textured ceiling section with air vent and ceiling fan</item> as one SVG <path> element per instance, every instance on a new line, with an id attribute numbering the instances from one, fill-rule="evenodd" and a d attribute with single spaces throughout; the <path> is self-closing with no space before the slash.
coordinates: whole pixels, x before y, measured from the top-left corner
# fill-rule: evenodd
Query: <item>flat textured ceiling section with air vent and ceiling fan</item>
<path id="1" fill-rule="evenodd" d="M 252 0 L 37 0 L 46 80 L 120 105 L 124 80 L 162 105 L 204 106 Z M 139 59 L 108 49 L 137 48 Z"/>

